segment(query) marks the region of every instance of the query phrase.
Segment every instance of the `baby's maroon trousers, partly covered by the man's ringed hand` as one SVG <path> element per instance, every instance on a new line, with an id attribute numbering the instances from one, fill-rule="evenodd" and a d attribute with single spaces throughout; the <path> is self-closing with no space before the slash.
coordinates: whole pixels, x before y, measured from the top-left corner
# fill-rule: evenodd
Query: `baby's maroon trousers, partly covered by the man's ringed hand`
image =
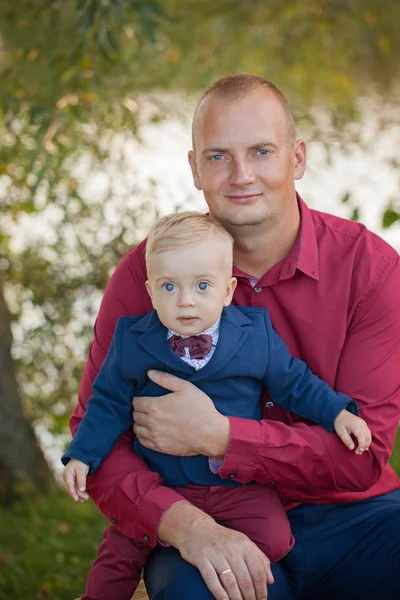
<path id="1" fill-rule="evenodd" d="M 252 483 L 237 487 L 189 485 L 175 489 L 221 525 L 246 534 L 271 561 L 281 559 L 293 546 L 286 513 L 270 486 Z M 115 526 L 107 527 L 103 537 L 81 600 L 130 600 L 151 547 L 122 535 Z M 190 596 L 181 597 L 187 600 Z M 171 598 L 175 600 L 174 595 Z"/>

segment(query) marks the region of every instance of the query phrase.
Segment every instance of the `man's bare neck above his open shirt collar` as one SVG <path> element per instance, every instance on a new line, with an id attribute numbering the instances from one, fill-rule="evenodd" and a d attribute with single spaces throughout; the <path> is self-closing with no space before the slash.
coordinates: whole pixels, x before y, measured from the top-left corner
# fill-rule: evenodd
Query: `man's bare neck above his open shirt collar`
<path id="1" fill-rule="evenodd" d="M 260 279 L 278 262 L 286 258 L 295 243 L 300 228 L 300 214 L 280 226 L 238 228 L 235 232 L 233 264 L 248 275 Z"/>

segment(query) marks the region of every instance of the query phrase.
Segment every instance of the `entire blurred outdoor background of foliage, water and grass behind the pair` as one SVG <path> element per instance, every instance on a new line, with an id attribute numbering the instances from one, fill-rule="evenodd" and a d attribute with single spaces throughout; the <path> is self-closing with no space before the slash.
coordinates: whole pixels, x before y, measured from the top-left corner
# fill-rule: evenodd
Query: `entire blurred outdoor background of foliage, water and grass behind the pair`
<path id="1" fill-rule="evenodd" d="M 68 417 L 113 269 L 206 209 L 186 155 L 207 85 L 278 85 L 305 201 L 400 250 L 399 23 L 398 0 L 0 0 L 1 599 L 83 590 L 104 520 L 60 490 Z"/>

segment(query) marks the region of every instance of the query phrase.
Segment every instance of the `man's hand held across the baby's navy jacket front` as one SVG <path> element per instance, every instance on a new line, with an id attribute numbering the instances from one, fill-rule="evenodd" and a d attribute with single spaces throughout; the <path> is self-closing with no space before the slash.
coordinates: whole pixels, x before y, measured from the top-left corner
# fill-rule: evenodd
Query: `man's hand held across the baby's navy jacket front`
<path id="1" fill-rule="evenodd" d="M 140 443 L 175 456 L 223 458 L 229 442 L 229 421 L 212 400 L 174 375 L 152 370 L 148 376 L 172 393 L 133 399 L 133 429 Z"/>

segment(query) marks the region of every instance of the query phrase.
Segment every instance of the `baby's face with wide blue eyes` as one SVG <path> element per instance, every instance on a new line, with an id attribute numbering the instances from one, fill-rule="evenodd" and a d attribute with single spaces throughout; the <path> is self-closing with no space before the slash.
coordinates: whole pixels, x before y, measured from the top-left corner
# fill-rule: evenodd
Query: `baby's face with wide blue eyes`
<path id="1" fill-rule="evenodd" d="M 236 287 L 232 248 L 217 236 L 153 254 L 148 272 L 146 287 L 160 321 L 181 335 L 214 325 Z"/>

